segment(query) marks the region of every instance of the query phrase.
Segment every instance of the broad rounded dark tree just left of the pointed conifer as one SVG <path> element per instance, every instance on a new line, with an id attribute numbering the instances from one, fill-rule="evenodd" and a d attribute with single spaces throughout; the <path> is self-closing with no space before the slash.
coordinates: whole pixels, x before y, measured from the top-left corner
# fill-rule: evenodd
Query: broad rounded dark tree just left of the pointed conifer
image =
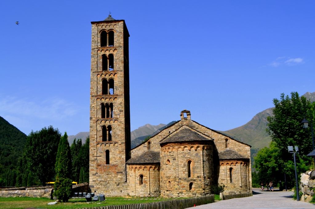
<path id="1" fill-rule="evenodd" d="M 55 176 L 55 159 L 61 134 L 52 126 L 27 136 L 25 154 L 28 168 L 36 180 L 42 185 L 53 180 Z"/>

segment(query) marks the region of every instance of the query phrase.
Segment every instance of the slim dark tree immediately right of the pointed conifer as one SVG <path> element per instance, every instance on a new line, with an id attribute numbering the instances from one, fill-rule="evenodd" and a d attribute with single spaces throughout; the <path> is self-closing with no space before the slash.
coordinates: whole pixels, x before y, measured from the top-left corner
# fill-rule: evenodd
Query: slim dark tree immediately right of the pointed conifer
<path id="1" fill-rule="evenodd" d="M 71 149 L 71 156 L 72 156 L 72 180 L 78 182 L 80 177 L 80 159 L 79 159 L 79 153 L 82 148 L 82 140 L 78 139 L 76 142 L 76 139 L 74 139 L 70 149 Z"/>

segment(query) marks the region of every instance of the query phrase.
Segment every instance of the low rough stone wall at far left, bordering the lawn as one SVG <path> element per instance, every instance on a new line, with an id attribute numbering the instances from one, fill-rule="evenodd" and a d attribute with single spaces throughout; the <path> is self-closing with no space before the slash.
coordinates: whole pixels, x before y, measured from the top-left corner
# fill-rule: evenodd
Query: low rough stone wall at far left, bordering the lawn
<path id="1" fill-rule="evenodd" d="M 40 189 L 40 190 L 1 190 L 0 197 L 46 197 L 52 199 L 54 190 Z"/>

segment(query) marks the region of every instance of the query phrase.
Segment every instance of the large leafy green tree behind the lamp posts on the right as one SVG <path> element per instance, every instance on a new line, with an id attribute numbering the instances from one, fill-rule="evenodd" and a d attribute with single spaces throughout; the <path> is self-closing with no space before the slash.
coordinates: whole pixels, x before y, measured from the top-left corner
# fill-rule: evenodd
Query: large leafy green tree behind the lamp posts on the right
<path id="1" fill-rule="evenodd" d="M 313 163 L 311 157 L 306 155 L 312 151 L 312 136 L 310 129 L 304 129 L 301 121 L 309 118 L 309 108 L 313 109 L 305 97 L 299 97 L 297 92 L 292 92 L 291 97 L 281 94 L 280 100 L 273 99 L 275 108 L 273 115 L 267 118 L 266 131 L 272 137 L 268 147 L 258 151 L 254 167 L 259 171 L 258 176 L 262 181 L 272 180 L 274 183 L 284 182 L 286 174 L 289 186 L 295 182 L 293 155 L 288 152 L 288 146 L 298 146 L 297 172 L 302 173 L 309 169 Z M 305 106 L 304 108 L 302 108 Z M 302 109 L 302 113 L 301 113 Z"/>

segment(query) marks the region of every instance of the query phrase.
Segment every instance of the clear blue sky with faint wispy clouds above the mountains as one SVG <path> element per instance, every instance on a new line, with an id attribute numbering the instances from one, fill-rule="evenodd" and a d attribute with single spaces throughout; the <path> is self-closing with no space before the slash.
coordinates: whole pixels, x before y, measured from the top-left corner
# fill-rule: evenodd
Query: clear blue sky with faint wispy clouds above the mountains
<path id="1" fill-rule="evenodd" d="M 0 116 L 89 131 L 90 22 L 109 12 L 130 33 L 131 130 L 187 109 L 226 131 L 315 92 L 315 1 L 1 1 Z"/>

